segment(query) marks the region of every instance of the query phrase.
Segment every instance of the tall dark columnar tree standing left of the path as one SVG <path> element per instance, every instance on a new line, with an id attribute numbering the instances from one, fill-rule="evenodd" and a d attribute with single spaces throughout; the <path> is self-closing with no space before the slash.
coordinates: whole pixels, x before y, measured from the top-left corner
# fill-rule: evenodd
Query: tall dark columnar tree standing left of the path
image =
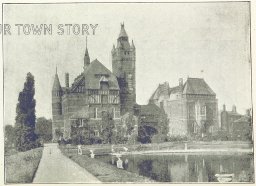
<path id="1" fill-rule="evenodd" d="M 16 107 L 15 134 L 18 151 L 26 151 L 37 146 L 37 135 L 35 134 L 36 101 L 34 94 L 34 76 L 29 72 L 24 88 L 19 93 Z"/>

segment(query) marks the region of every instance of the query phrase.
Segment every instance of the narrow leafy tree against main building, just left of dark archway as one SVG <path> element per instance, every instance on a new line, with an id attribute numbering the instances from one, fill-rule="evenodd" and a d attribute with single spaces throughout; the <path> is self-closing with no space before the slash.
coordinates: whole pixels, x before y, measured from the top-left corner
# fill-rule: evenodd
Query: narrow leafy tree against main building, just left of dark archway
<path id="1" fill-rule="evenodd" d="M 113 129 L 115 128 L 113 116 L 109 111 L 102 113 L 102 139 L 103 143 L 113 142 Z"/>

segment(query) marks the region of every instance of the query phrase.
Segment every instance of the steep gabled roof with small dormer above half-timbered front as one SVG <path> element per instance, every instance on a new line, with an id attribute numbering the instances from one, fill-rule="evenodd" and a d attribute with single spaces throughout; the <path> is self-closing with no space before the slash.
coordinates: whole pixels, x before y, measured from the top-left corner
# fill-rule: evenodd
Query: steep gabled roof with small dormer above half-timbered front
<path id="1" fill-rule="evenodd" d="M 77 86 L 85 86 L 85 89 L 100 89 L 100 81 L 108 82 L 109 89 L 119 90 L 118 82 L 114 74 L 97 59 L 92 61 L 72 84 L 72 90 Z"/>

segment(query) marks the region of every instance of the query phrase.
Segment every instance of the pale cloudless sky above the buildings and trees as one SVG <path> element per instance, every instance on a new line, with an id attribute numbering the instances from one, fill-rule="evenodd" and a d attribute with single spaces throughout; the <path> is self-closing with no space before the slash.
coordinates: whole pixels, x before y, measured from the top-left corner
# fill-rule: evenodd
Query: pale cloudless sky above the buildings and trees
<path id="1" fill-rule="evenodd" d="M 251 107 L 250 17 L 246 2 L 77 3 L 4 5 L 4 124 L 14 124 L 18 93 L 26 74 L 35 77 L 37 117 L 52 117 L 51 89 L 57 66 L 61 85 L 83 71 L 86 35 L 57 34 L 59 24 L 98 24 L 89 30 L 91 60 L 110 70 L 111 49 L 120 23 L 136 47 L 136 94 L 147 104 L 159 83 L 204 78 L 217 95 L 219 109 Z M 52 24 L 51 35 L 17 34 L 15 24 Z"/>

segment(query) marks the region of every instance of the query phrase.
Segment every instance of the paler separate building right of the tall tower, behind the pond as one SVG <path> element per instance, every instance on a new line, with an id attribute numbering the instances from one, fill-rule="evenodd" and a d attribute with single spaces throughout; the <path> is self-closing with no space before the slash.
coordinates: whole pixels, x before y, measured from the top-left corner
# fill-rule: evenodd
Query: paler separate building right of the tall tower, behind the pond
<path id="1" fill-rule="evenodd" d="M 159 84 L 149 101 L 164 109 L 170 136 L 204 136 L 218 127 L 218 100 L 204 79 L 188 78 L 184 84 L 179 79 L 176 87 Z"/>

